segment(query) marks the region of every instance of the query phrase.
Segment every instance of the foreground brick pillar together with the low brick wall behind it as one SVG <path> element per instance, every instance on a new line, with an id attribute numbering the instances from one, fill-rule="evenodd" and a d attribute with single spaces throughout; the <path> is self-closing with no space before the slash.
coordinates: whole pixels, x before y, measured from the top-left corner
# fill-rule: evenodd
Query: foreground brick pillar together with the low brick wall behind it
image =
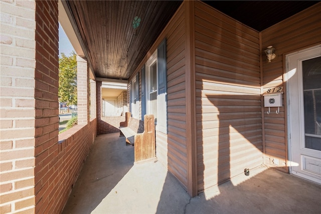
<path id="1" fill-rule="evenodd" d="M 97 121 L 58 143 L 58 1 L 0 4 L 0 213 L 61 213 Z"/>

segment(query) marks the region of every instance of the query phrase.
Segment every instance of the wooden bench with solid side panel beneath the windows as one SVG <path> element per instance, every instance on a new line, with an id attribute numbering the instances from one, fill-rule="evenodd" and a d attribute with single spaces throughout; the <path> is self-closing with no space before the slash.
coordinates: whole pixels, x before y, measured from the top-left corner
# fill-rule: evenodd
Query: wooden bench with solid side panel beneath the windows
<path id="1" fill-rule="evenodd" d="M 145 115 L 144 121 L 125 113 L 125 121 L 119 124 L 120 134 L 125 136 L 126 143 L 134 146 L 135 163 L 156 159 L 155 124 L 153 115 Z"/>

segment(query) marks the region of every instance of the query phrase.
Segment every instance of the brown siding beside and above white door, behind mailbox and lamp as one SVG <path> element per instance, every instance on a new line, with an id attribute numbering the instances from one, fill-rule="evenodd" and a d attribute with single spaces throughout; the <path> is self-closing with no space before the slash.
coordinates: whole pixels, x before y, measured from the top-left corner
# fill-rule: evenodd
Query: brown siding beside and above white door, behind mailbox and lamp
<path id="1" fill-rule="evenodd" d="M 276 58 L 267 63 L 263 57 L 263 87 L 284 86 L 283 107 L 280 114 L 264 113 L 266 164 L 274 165 L 273 158 L 279 159 L 278 169 L 286 171 L 287 131 L 286 131 L 286 88 L 283 74 L 286 71 L 285 54 L 321 43 L 321 3 L 296 14 L 262 31 L 262 48 L 273 45 Z M 274 165 L 276 166 L 276 165 Z"/>

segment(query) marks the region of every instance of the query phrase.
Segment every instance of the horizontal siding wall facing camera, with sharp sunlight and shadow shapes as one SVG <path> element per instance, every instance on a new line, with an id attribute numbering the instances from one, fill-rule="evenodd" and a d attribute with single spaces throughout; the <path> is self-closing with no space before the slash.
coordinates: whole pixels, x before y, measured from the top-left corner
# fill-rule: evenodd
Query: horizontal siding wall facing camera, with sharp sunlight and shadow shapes
<path id="1" fill-rule="evenodd" d="M 198 189 L 262 164 L 259 33 L 195 3 Z"/>

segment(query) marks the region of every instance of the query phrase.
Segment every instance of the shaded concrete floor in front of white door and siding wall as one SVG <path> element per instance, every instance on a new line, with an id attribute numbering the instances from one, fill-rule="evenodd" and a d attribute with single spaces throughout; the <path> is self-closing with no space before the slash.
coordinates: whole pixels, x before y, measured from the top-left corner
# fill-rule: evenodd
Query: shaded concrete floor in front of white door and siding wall
<path id="1" fill-rule="evenodd" d="M 156 213 L 320 213 L 321 186 L 274 168 L 258 167 L 189 198 L 166 178 Z M 185 202 L 185 204 L 184 204 Z"/>

